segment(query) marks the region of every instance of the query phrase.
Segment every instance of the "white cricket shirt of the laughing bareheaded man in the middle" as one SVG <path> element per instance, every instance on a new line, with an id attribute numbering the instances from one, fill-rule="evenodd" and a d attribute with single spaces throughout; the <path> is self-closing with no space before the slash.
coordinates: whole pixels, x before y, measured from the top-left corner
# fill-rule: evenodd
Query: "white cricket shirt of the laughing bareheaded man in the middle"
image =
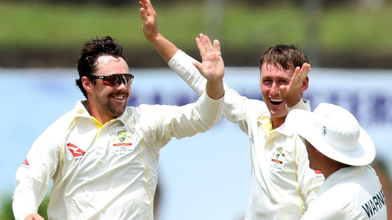
<path id="1" fill-rule="evenodd" d="M 169 66 L 201 95 L 206 80 L 192 65 L 193 61 L 196 60 L 178 50 Z M 292 108 L 308 110 L 302 100 Z M 238 123 L 250 140 L 252 188 L 245 219 L 300 219 L 324 181 L 322 174 L 309 168 L 303 141 L 298 135 L 293 136 L 285 124 L 271 130 L 267 105 L 240 96 L 227 85 L 223 116 Z"/>

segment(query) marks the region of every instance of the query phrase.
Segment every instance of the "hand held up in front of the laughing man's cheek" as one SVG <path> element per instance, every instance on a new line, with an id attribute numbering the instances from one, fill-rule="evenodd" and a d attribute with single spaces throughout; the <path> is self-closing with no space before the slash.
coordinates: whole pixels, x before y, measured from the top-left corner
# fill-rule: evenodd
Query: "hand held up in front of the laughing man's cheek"
<path id="1" fill-rule="evenodd" d="M 288 86 L 279 87 L 279 96 L 285 101 L 287 107 L 292 107 L 301 99 L 301 89 L 310 71 L 310 64 L 304 63 L 301 68 L 296 67 Z M 307 86 L 307 84 L 306 84 Z"/>

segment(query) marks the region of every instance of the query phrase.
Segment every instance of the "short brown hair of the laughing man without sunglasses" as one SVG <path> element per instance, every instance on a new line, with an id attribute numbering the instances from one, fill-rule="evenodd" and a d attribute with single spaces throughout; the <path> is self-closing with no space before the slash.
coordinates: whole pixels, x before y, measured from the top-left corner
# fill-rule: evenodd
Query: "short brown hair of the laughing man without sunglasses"
<path id="1" fill-rule="evenodd" d="M 260 69 L 264 63 L 288 70 L 302 67 L 303 63 L 308 63 L 308 58 L 294 45 L 278 44 L 265 50 L 260 58 Z"/>

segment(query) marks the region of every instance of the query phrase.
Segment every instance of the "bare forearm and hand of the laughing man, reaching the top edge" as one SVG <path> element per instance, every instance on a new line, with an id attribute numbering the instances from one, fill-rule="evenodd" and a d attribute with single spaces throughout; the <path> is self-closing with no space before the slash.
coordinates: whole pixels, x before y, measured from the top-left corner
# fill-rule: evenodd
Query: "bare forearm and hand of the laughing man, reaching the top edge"
<path id="1" fill-rule="evenodd" d="M 143 20 L 142 28 L 144 35 L 162 56 L 163 60 L 169 63 L 178 48 L 159 33 L 156 12 L 152 7 L 151 1 L 140 0 L 139 4 L 142 6 L 139 12 Z"/>

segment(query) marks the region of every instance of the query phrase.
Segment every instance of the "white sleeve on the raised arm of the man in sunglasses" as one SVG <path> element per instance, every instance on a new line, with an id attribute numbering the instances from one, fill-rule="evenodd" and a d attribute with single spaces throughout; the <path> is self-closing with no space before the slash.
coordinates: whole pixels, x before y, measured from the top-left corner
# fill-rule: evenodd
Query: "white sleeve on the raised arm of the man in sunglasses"
<path id="1" fill-rule="evenodd" d="M 198 101 L 184 106 L 141 105 L 145 138 L 181 139 L 205 132 L 220 121 L 224 99 L 211 99 L 204 92 Z"/>

